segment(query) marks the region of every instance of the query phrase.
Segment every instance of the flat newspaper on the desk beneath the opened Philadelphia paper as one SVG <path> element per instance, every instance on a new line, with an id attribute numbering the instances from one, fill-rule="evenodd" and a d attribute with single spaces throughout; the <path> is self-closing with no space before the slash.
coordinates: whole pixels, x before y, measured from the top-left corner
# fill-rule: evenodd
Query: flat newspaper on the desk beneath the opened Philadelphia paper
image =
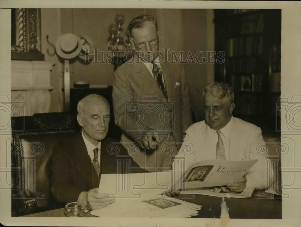
<path id="1" fill-rule="evenodd" d="M 198 195 L 210 195 L 217 197 L 227 198 L 248 198 L 253 194 L 254 188 L 244 189 L 242 192 L 235 191 L 223 191 L 222 188 L 208 187 L 208 188 L 189 188 L 181 191 L 181 194 L 198 194 Z"/>

